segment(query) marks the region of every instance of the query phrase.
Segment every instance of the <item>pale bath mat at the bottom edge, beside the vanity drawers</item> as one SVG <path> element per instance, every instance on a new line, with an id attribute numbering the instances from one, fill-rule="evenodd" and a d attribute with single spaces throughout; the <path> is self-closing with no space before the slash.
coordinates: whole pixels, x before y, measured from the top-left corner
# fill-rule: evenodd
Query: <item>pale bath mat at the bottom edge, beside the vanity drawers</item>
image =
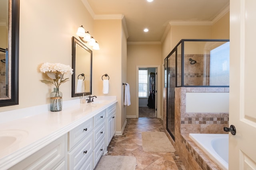
<path id="1" fill-rule="evenodd" d="M 135 170 L 134 156 L 101 156 L 94 170 Z"/>

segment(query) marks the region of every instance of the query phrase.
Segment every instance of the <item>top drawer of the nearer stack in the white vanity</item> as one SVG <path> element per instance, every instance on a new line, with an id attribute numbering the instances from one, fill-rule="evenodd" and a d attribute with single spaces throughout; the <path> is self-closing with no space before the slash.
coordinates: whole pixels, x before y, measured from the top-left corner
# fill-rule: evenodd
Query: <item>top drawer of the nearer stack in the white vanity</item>
<path id="1" fill-rule="evenodd" d="M 68 150 L 71 150 L 79 141 L 88 136 L 93 129 L 93 118 L 85 121 L 68 133 Z"/>

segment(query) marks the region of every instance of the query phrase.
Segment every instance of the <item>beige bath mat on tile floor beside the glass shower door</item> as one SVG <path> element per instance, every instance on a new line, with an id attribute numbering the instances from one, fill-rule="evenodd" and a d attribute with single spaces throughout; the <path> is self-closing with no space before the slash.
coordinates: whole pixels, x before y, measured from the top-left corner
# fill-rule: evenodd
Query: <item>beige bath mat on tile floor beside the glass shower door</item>
<path id="1" fill-rule="evenodd" d="M 142 149 L 144 152 L 175 152 L 164 132 L 142 132 Z"/>

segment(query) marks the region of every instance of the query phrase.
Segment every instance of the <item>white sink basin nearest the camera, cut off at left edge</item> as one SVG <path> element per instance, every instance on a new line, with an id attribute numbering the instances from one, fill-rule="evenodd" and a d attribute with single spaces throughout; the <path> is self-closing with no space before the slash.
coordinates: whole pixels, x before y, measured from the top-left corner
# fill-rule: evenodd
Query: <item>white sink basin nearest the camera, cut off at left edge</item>
<path id="1" fill-rule="evenodd" d="M 27 136 L 28 133 L 21 130 L 0 131 L 0 150 L 7 149 L 16 143 L 19 143 L 21 139 Z"/>

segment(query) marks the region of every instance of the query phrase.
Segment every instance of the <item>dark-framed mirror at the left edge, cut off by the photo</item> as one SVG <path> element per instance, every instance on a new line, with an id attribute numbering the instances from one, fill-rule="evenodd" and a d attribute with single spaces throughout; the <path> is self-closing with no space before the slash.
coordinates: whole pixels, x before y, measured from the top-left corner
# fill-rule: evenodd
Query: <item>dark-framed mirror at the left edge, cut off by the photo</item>
<path id="1" fill-rule="evenodd" d="M 0 1 L 0 107 L 18 104 L 19 0 Z"/>

